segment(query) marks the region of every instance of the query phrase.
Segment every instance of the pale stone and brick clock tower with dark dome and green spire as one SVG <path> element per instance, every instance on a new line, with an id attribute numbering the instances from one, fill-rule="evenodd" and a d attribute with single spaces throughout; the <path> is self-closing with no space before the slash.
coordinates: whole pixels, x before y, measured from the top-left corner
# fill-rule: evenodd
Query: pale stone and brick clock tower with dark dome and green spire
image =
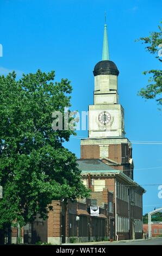
<path id="1" fill-rule="evenodd" d="M 106 24 L 102 60 L 93 73 L 94 105 L 89 105 L 88 139 L 81 140 L 81 159 L 100 159 L 133 179 L 132 145 L 125 138 L 124 108 L 119 103 L 119 70 L 109 59 Z"/>

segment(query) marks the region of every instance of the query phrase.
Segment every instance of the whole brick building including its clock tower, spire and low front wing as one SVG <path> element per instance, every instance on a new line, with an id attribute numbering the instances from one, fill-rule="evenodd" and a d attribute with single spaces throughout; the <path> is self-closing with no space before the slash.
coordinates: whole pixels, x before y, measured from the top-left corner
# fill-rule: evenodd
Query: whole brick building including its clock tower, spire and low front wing
<path id="1" fill-rule="evenodd" d="M 119 70 L 109 60 L 107 25 L 102 61 L 95 65 L 93 72 L 94 105 L 89 105 L 88 138 L 81 140 L 78 160 L 83 183 L 91 189 L 91 198 L 67 204 L 53 201 L 48 220 L 35 220 L 32 224 L 31 241 L 40 239 L 60 244 L 71 239 L 142 238 L 145 190 L 133 180 L 132 145 L 125 137 L 124 108 L 118 94 Z M 98 217 L 90 216 L 91 205 L 100 207 Z M 42 234 L 43 230 L 46 235 Z"/>

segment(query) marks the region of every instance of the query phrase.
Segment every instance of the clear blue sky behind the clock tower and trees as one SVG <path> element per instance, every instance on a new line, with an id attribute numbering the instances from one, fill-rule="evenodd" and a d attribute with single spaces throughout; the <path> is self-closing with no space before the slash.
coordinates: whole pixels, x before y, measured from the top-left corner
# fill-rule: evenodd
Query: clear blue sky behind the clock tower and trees
<path id="1" fill-rule="evenodd" d="M 7 74 L 55 70 L 56 80 L 73 86 L 72 109 L 87 111 L 93 104 L 92 70 L 102 57 L 104 12 L 107 12 L 110 59 L 120 70 L 120 103 L 125 109 L 126 136 L 132 141 L 162 141 L 161 114 L 154 101 L 137 95 L 147 84 L 142 71 L 160 63 L 135 42 L 156 31 L 160 0 L 1 0 L 0 72 Z M 78 131 L 86 137 L 87 131 Z M 65 144 L 80 157 L 80 140 Z M 141 185 L 162 184 L 162 145 L 133 144 L 134 179 Z M 151 168 L 136 170 L 140 168 Z M 144 213 L 162 206 L 158 186 L 144 186 Z"/>

